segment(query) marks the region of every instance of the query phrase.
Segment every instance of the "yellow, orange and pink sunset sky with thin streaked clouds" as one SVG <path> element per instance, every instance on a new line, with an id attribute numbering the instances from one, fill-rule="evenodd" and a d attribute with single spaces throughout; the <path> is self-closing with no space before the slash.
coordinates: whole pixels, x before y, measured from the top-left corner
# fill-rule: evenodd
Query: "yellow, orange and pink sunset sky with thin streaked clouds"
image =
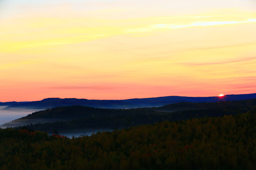
<path id="1" fill-rule="evenodd" d="M 0 0 L 0 102 L 256 93 L 255 0 Z"/>

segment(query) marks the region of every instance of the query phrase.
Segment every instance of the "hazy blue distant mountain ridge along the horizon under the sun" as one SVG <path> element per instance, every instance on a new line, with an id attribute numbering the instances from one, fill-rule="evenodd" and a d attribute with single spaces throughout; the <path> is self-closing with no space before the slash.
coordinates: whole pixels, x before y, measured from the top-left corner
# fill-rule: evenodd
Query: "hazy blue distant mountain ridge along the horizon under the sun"
<path id="1" fill-rule="evenodd" d="M 75 98 L 47 98 L 35 102 L 2 102 L 0 105 L 8 105 L 5 109 L 47 109 L 57 106 L 73 106 L 82 105 L 95 108 L 109 109 L 126 109 L 139 107 L 159 107 L 166 104 L 178 102 L 218 102 L 218 101 L 234 101 L 256 98 L 256 93 L 253 94 L 232 94 L 223 97 L 183 97 L 183 96 L 166 96 L 155 98 L 142 99 L 127 99 L 127 100 L 87 100 Z"/>

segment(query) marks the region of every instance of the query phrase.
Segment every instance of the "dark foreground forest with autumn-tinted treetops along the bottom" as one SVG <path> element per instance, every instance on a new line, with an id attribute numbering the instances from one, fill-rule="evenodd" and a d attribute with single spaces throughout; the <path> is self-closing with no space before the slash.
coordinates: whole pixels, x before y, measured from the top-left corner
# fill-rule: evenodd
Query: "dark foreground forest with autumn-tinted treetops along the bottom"
<path id="1" fill-rule="evenodd" d="M 166 120 L 72 139 L 0 129 L 0 170 L 254 170 L 256 113 Z"/>

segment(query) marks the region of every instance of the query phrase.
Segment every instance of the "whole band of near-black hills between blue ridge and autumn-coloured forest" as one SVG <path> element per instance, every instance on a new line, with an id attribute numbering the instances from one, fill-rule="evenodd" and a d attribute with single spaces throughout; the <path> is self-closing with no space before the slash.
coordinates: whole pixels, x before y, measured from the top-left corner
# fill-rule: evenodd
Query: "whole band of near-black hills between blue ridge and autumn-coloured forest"
<path id="1" fill-rule="evenodd" d="M 43 118 L 68 120 L 27 125 L 27 128 L 51 133 L 53 129 L 57 129 L 59 132 L 65 132 L 70 129 L 126 128 L 141 124 L 153 124 L 157 121 L 220 117 L 245 113 L 247 111 L 256 113 L 256 99 L 212 103 L 183 102 L 158 108 L 119 110 L 97 109 L 84 106 L 58 107 L 38 111 L 15 121 Z"/>

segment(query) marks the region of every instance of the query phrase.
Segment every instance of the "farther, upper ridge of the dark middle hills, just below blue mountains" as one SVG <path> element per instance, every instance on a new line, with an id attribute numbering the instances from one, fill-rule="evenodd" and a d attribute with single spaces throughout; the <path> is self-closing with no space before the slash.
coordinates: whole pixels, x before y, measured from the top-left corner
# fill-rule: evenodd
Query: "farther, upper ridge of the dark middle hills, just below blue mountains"
<path id="1" fill-rule="evenodd" d="M 166 114 L 165 112 L 213 109 L 229 110 L 230 114 L 234 114 L 234 112 L 242 113 L 254 108 L 256 108 L 256 99 L 227 102 L 180 102 L 168 104 L 162 107 L 137 109 L 101 109 L 86 106 L 65 106 L 37 111 L 20 119 L 78 119 L 84 117 L 110 117 L 132 114 Z"/>

